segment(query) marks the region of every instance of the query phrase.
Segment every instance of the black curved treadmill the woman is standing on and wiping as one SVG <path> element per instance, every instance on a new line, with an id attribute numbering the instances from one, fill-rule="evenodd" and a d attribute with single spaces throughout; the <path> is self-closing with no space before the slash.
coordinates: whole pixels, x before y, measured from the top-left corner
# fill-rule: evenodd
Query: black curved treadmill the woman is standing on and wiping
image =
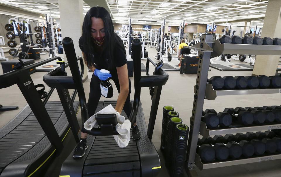
<path id="1" fill-rule="evenodd" d="M 50 72 L 44 75 L 44 82 L 50 87 L 67 87 L 67 85 L 71 85 L 73 88 L 75 85 L 79 96 L 83 125 L 88 119 L 88 111 L 82 80 L 78 77 L 79 68 L 77 62 L 75 62 L 76 54 L 73 41 L 71 38 L 66 37 L 62 43 L 72 77 L 58 76 L 56 72 Z M 169 76 L 161 68 L 162 63 L 156 64 L 150 57 L 147 58 L 146 62 L 147 76 L 140 76 L 141 44 L 142 42 L 138 38 L 132 41 L 135 95 L 132 111 L 128 118 L 131 122 L 135 122 L 136 120 L 141 138 L 134 141 L 131 137 L 128 146 L 126 148 L 120 148 L 112 136 L 118 134 L 115 129 L 116 114 L 97 115 L 96 119 L 99 126 L 86 131 L 89 134 L 87 137 L 89 147 L 85 151 L 85 155 L 81 158 L 73 158 L 72 151 L 62 164 L 60 177 L 149 177 L 156 176 L 160 171 L 159 155 L 151 138 L 162 86 L 165 85 Z M 149 75 L 150 62 L 155 66 L 152 76 Z M 145 124 L 140 102 L 141 87 L 149 87 L 152 99 L 148 128 Z M 116 101 L 100 101 L 96 112 L 109 104 L 115 106 Z M 123 111 L 121 114 L 126 115 Z"/>

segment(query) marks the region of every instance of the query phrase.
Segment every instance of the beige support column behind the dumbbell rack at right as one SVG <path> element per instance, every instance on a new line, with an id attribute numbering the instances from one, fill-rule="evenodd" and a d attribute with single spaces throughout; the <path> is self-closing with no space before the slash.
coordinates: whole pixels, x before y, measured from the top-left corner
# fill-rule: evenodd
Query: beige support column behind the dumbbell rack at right
<path id="1" fill-rule="evenodd" d="M 261 37 L 280 37 L 281 28 L 281 1 L 280 0 L 270 0 L 268 1 L 263 30 Z M 279 57 L 277 55 L 257 55 L 255 66 L 253 69 L 253 76 L 266 75 L 272 76 L 276 73 L 276 68 L 279 62 Z"/>

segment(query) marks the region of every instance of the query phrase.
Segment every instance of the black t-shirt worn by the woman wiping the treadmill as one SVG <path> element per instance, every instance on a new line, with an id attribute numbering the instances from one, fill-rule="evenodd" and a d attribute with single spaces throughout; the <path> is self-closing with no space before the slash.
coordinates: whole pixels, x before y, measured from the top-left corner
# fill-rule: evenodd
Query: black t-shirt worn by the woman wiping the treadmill
<path id="1" fill-rule="evenodd" d="M 91 43 L 89 45 L 96 45 L 95 43 Z M 79 39 L 79 47 L 84 52 L 83 49 L 83 39 L 80 37 Z M 121 67 L 126 64 L 126 54 L 124 50 L 118 46 L 115 46 L 113 58 L 112 58 L 112 68 L 110 69 L 108 66 L 108 60 L 105 57 L 105 53 L 107 52 L 107 49 L 104 50 L 104 52 L 101 53 L 101 51 L 94 52 L 93 54 L 90 54 L 91 60 L 95 64 L 95 67 L 97 69 L 107 69 L 110 72 L 116 71 L 116 67 Z"/>

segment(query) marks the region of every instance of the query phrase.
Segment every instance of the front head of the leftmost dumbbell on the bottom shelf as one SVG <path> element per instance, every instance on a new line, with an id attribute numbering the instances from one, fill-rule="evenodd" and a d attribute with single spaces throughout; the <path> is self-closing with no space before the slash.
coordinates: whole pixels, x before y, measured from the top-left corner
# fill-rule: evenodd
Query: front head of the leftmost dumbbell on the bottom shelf
<path id="1" fill-rule="evenodd" d="M 203 162 L 211 162 L 215 159 L 216 151 L 209 144 L 203 144 L 198 148 L 198 154 Z"/>

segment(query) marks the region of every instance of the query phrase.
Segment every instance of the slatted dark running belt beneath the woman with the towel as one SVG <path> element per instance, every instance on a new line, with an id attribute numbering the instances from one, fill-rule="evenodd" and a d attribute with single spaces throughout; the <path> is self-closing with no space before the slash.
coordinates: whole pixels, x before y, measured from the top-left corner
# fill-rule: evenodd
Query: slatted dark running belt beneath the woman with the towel
<path id="1" fill-rule="evenodd" d="M 109 104 L 115 107 L 116 101 L 99 102 L 100 104 L 103 105 L 102 108 Z M 138 114 L 140 114 L 140 111 L 138 111 Z M 128 119 L 123 110 L 121 115 Z M 140 176 L 138 147 L 132 136 L 126 148 L 120 148 L 113 136 L 95 137 L 93 146 L 85 160 L 83 176 L 104 177 L 112 175 L 114 177 Z"/>

